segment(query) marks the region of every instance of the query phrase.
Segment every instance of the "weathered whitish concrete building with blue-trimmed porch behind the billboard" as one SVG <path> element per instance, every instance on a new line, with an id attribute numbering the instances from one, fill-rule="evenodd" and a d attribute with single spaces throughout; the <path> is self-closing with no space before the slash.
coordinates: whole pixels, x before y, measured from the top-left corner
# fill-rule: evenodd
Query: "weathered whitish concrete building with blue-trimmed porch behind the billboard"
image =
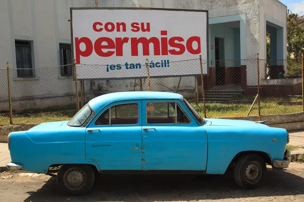
<path id="1" fill-rule="evenodd" d="M 286 59 L 287 8 L 278 0 L 3 0 L 0 1 L 0 68 L 10 63 L 14 109 L 47 107 L 74 102 L 71 67 L 36 70 L 71 62 L 70 7 L 154 7 L 209 11 L 208 88 L 215 85 L 256 85 L 256 66 L 246 59 L 266 59 L 266 34 L 271 33 L 271 59 Z M 217 60 L 235 60 L 217 63 Z M 217 65 L 217 66 L 216 66 Z M 274 61 L 272 66 L 286 68 Z M 29 70 L 23 70 L 26 67 Z M 17 69 L 18 68 L 18 69 Z M 0 70 L 0 99 L 8 97 L 6 70 Z M 265 77 L 266 68 L 260 66 Z M 238 76 L 239 79 L 230 78 Z M 261 78 L 261 84 L 269 81 Z M 166 83 L 166 79 L 156 79 Z M 168 80 L 167 80 L 168 81 Z M 223 83 L 224 81 L 224 83 Z M 87 81 L 86 92 L 133 90 L 135 81 Z M 222 83 L 221 83 L 222 82 Z M 276 85 L 286 81 L 275 81 Z M 296 81 L 288 81 L 294 84 Z M 168 83 L 168 82 L 167 82 Z M 171 78 L 176 87 L 178 78 Z M 192 88 L 194 79 L 183 79 L 180 88 Z M 139 87 L 136 87 L 139 90 Z M 88 98 L 90 96 L 88 95 Z M 22 102 L 21 100 L 27 100 Z M 7 109 L 7 103 L 0 104 Z"/>

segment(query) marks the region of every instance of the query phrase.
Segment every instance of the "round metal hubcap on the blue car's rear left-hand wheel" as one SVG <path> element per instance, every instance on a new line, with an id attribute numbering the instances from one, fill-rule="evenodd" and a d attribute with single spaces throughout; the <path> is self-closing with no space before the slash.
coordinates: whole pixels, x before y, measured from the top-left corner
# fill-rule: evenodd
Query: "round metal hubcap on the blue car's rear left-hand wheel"
<path id="1" fill-rule="evenodd" d="M 70 168 L 64 175 L 64 184 L 72 190 L 82 188 L 86 180 L 86 174 L 79 168 Z"/>

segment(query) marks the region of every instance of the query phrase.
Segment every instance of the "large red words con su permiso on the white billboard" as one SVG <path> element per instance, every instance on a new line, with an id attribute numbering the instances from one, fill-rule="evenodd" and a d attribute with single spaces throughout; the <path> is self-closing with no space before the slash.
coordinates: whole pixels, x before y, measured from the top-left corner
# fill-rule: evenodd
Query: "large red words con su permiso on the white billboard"
<path id="1" fill-rule="evenodd" d="M 126 32 L 125 23 L 93 23 L 95 32 Z M 149 23 L 132 23 L 132 32 L 150 32 Z M 81 44 L 85 49 L 81 49 Z M 93 51 L 100 57 L 117 56 L 122 57 L 130 54 L 131 56 L 168 56 L 182 55 L 185 52 L 193 55 L 201 54 L 201 38 L 199 36 L 168 37 L 167 30 L 161 30 L 160 36 L 151 37 L 99 37 L 92 41 L 89 37 L 75 37 L 75 58 L 78 64 L 81 63 L 81 57 L 89 57 Z M 142 53 L 139 53 L 138 46 L 142 46 Z M 150 53 L 150 45 L 153 45 L 153 52 Z M 83 45 L 82 45 L 83 46 Z M 131 46 L 131 53 L 124 52 L 126 46 Z M 130 48 L 128 48 L 130 49 Z"/>

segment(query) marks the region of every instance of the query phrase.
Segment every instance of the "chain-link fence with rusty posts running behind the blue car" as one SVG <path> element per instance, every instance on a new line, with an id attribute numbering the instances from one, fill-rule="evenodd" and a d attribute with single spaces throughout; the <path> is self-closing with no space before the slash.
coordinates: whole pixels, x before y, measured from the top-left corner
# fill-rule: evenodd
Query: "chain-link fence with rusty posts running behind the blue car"
<path id="1" fill-rule="evenodd" d="M 10 124 L 8 83 L 11 89 L 13 124 L 39 124 L 69 120 L 78 108 L 90 99 L 119 91 L 167 91 L 182 94 L 194 108 L 207 118 L 236 118 L 303 112 L 301 67 L 290 61 L 201 59 L 128 64 L 124 66 L 78 65 L 76 77 L 86 72 L 92 78 L 100 68 L 112 71 L 110 79 L 80 80 L 77 85 L 73 64 L 35 69 L 0 68 L 0 125 Z M 149 67 L 149 68 L 147 68 Z M 170 68 L 168 68 L 170 67 Z M 119 79 L 117 68 L 133 71 L 132 79 Z M 150 77 L 159 68 L 162 74 Z M 297 68 L 294 71 L 294 68 Z M 10 72 L 8 81 L 7 71 Z M 148 71 L 147 71 L 148 70 Z M 193 72 L 191 72 L 193 70 Z M 198 74 L 202 70 L 204 74 Z M 166 72 L 168 71 L 168 72 Z M 181 72 L 187 71 L 187 76 Z M 294 73 L 296 72 L 296 73 Z M 145 76 L 143 76 L 145 75 Z M 258 79 L 259 78 L 259 79 Z M 77 88 L 77 90 L 76 90 Z M 78 92 L 78 105 L 77 96 Z M 245 119 L 245 118 L 244 118 Z M 303 133 L 304 136 L 304 133 Z"/>

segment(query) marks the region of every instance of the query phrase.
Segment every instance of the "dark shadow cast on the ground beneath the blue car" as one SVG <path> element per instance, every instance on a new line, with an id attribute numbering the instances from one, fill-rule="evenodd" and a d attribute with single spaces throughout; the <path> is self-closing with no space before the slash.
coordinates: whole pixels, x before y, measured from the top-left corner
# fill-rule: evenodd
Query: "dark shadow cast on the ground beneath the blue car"
<path id="1" fill-rule="evenodd" d="M 52 177 L 40 189 L 28 192 L 25 201 L 175 201 L 298 195 L 304 193 L 304 178 L 286 171 L 267 172 L 263 187 L 245 190 L 236 185 L 231 173 L 214 176 L 108 175 L 96 177 L 87 195 L 64 196 Z"/>

